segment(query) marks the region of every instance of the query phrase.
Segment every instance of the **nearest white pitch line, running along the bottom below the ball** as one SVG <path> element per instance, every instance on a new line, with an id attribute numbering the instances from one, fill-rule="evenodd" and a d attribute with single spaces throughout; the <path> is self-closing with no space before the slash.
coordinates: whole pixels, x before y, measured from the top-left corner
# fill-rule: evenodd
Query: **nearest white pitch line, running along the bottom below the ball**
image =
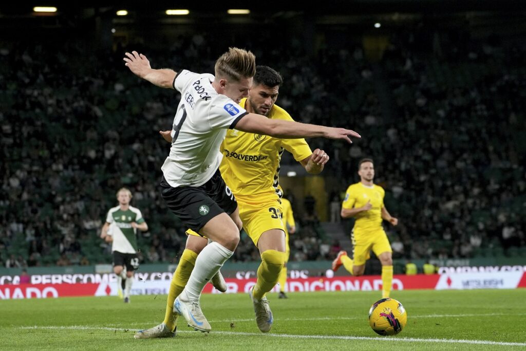
<path id="1" fill-rule="evenodd" d="M 72 326 L 26 326 L 21 329 L 75 329 L 75 330 L 130 330 L 124 328 L 109 328 L 109 327 L 90 327 L 82 325 Z M 193 330 L 178 330 L 177 333 L 195 333 Z M 326 340 L 371 340 L 382 342 L 403 342 L 403 343 L 442 343 L 442 344 L 471 344 L 471 345 L 494 345 L 494 346 L 526 346 L 526 343 L 512 343 L 512 342 L 497 342 L 491 340 L 466 340 L 466 339 L 437 339 L 437 338 L 398 338 L 398 337 L 370 337 L 370 336 L 339 336 L 339 335 L 295 335 L 295 334 L 261 334 L 261 333 L 245 333 L 245 332 L 213 332 L 213 334 L 220 335 L 242 335 L 242 336 L 257 336 L 257 337 L 278 337 L 288 339 L 326 339 Z"/>

